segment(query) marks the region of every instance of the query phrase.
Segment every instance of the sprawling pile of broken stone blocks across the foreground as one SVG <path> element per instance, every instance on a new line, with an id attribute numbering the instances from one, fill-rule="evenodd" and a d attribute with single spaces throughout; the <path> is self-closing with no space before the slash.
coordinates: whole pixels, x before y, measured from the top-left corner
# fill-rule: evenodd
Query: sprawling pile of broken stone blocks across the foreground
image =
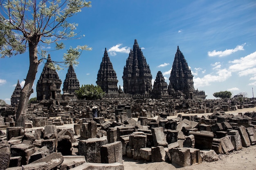
<path id="1" fill-rule="evenodd" d="M 0 169 L 124 169 L 122 157 L 184 167 L 216 161 L 217 154 L 256 144 L 255 112 L 234 116 L 214 111 L 202 117 L 176 113 L 176 118 L 168 119 L 168 114 L 159 114 L 165 112 L 148 112 L 154 102 L 143 105 L 136 119 L 130 106 L 119 104 L 108 120 L 36 117 L 26 121 L 25 128 L 7 127 L 6 134 L 0 131 Z M 64 121 L 75 122 L 74 130 L 58 128 Z"/>

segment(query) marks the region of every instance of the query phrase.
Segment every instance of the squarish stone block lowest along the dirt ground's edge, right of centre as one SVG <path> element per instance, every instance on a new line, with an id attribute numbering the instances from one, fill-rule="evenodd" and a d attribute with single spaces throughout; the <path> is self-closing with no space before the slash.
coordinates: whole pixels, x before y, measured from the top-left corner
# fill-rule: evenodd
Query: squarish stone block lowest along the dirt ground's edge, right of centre
<path id="1" fill-rule="evenodd" d="M 171 149 L 171 160 L 181 167 L 191 165 L 190 150 L 186 148 L 173 148 Z"/>

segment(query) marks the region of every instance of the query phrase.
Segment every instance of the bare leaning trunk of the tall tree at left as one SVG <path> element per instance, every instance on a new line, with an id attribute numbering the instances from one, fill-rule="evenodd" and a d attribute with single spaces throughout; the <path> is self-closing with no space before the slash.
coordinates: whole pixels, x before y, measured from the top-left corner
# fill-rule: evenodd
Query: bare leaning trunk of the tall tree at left
<path id="1" fill-rule="evenodd" d="M 33 83 L 36 79 L 36 72 L 38 68 L 38 57 L 37 57 L 37 44 L 40 40 L 40 37 L 34 35 L 29 38 L 29 71 L 27 73 L 27 77 L 25 79 L 25 85 L 20 93 L 20 101 L 18 105 L 18 109 L 16 112 L 16 122 L 15 126 L 25 127 L 25 120 L 27 114 L 27 106 L 29 102 L 29 97 L 31 93 L 33 93 Z"/>

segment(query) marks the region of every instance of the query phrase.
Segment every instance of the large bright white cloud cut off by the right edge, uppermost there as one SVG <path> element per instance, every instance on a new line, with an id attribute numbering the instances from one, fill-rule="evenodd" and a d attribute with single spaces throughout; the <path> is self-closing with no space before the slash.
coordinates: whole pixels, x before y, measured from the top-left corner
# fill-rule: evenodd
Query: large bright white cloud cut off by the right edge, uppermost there
<path id="1" fill-rule="evenodd" d="M 229 61 L 233 65 L 229 66 L 230 71 L 243 71 L 256 66 L 256 51 L 240 59 Z"/>

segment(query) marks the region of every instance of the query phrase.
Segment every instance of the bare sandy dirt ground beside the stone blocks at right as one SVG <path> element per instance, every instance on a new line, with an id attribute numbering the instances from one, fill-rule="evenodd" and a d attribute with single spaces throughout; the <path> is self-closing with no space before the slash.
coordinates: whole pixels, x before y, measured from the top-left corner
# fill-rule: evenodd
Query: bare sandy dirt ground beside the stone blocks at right
<path id="1" fill-rule="evenodd" d="M 244 108 L 225 113 L 238 115 L 256 111 L 255 108 Z M 189 114 L 185 114 L 189 115 Z M 195 115 L 195 114 L 194 114 Z M 210 114 L 198 114 L 198 117 Z M 175 116 L 177 117 L 177 116 Z M 133 160 L 124 157 L 124 170 L 256 170 L 256 145 L 229 153 L 229 155 L 218 155 L 219 160 L 214 162 L 202 162 L 198 165 L 175 167 L 166 162 L 145 162 L 144 160 Z"/>

